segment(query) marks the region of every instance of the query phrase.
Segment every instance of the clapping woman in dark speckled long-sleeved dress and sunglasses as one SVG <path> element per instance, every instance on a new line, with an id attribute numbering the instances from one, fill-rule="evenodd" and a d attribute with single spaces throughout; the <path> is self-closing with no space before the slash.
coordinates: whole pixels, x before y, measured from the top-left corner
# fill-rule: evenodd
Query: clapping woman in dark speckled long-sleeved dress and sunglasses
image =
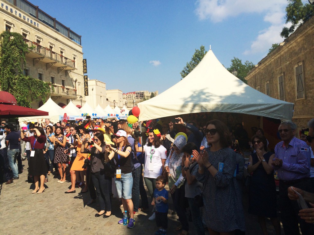
<path id="1" fill-rule="evenodd" d="M 245 231 L 240 190 L 236 177 L 233 177 L 236 153 L 229 147 L 230 131 L 220 120 L 208 122 L 206 128 L 204 132 L 211 147 L 201 153 L 192 151 L 199 165 L 196 179 L 203 183 L 203 220 L 209 234 Z"/>

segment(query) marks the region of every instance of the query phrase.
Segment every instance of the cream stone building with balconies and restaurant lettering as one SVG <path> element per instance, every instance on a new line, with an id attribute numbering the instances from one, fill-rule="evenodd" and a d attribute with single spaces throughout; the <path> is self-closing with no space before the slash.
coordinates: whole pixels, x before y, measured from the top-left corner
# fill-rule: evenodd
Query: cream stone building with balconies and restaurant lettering
<path id="1" fill-rule="evenodd" d="M 0 17 L 0 32 L 20 33 L 29 46 L 25 75 L 50 82 L 50 96 L 60 106 L 70 100 L 80 105 L 81 95 L 85 101 L 80 35 L 26 0 L 1 0 Z"/>

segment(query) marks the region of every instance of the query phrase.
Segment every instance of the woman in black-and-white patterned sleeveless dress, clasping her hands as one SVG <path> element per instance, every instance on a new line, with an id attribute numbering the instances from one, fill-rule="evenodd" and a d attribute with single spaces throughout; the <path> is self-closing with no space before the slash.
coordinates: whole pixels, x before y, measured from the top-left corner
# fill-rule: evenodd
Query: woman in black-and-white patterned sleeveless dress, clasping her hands
<path id="1" fill-rule="evenodd" d="M 61 126 L 56 127 L 55 136 L 52 138 L 53 146 L 55 147 L 55 155 L 53 158 L 53 162 L 58 164 L 58 170 L 60 174 L 60 180 L 58 183 L 64 183 L 65 180 L 65 169 L 67 168 L 66 163 L 68 160 L 68 154 L 65 153 L 65 144 L 67 142 L 67 138 L 63 135 L 63 129 Z"/>

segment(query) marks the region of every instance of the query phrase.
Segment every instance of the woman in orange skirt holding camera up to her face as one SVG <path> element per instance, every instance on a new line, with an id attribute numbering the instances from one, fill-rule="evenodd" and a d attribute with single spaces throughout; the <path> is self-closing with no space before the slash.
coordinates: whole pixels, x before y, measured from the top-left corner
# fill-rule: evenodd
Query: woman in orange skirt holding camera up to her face
<path id="1" fill-rule="evenodd" d="M 82 168 L 84 165 L 84 161 L 87 158 L 87 154 L 86 153 L 81 153 L 81 147 L 82 147 L 82 139 L 83 138 L 90 138 L 90 135 L 88 134 L 88 130 L 86 128 L 84 128 L 84 126 L 78 126 L 76 127 L 77 132 L 74 135 L 74 142 L 73 142 L 73 146 L 77 146 L 77 155 L 76 158 L 74 159 L 73 163 L 72 163 L 72 167 L 70 169 L 70 174 L 71 174 L 71 188 L 64 192 L 64 193 L 75 193 L 75 182 L 76 179 L 79 179 L 79 176 L 81 176 L 81 183 L 79 185 L 81 185 L 83 187 L 83 181 L 84 181 L 84 171 L 86 171 L 86 168 Z M 85 143 L 84 148 L 88 148 L 88 143 Z M 84 189 L 81 191 L 81 193 L 86 193 L 88 191 L 88 187 L 87 187 L 87 182 L 85 182 L 85 186 Z"/>

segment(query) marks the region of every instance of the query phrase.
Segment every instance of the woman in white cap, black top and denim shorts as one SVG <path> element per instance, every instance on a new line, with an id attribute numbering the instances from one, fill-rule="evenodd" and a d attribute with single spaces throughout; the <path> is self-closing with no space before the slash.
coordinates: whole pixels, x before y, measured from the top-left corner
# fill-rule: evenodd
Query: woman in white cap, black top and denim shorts
<path id="1" fill-rule="evenodd" d="M 133 202 L 132 202 L 132 186 L 133 186 L 133 176 L 131 167 L 131 158 L 129 156 L 132 149 L 131 145 L 127 141 L 127 132 L 120 129 L 114 134 L 116 139 L 117 148 L 107 145 L 107 152 L 111 151 L 109 154 L 109 159 L 114 158 L 116 160 L 115 169 L 115 183 L 119 198 L 122 198 L 122 205 L 124 211 L 127 211 L 129 217 L 129 222 L 127 228 L 133 228 L 135 225 L 135 219 L 133 215 Z M 118 224 L 123 224 L 123 219 L 118 222 Z"/>

